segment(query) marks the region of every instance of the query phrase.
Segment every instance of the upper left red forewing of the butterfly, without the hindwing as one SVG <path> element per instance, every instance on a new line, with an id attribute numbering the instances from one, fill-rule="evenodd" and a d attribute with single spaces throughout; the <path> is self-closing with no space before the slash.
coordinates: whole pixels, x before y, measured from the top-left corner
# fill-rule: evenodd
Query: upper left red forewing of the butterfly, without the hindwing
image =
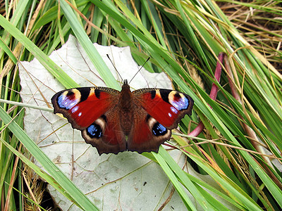
<path id="1" fill-rule="evenodd" d="M 84 87 L 59 91 L 51 98 L 54 113 L 61 113 L 73 128 L 85 129 L 118 103 L 115 89 Z"/>

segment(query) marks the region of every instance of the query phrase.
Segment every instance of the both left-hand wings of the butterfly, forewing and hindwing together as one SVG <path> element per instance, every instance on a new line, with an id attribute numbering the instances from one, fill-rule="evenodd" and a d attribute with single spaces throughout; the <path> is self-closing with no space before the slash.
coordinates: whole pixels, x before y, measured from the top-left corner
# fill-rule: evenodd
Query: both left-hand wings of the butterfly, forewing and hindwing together
<path id="1" fill-rule="evenodd" d="M 54 113 L 61 113 L 98 153 L 125 151 L 125 134 L 116 124 L 120 91 L 107 87 L 83 87 L 59 91 L 51 98 Z"/>

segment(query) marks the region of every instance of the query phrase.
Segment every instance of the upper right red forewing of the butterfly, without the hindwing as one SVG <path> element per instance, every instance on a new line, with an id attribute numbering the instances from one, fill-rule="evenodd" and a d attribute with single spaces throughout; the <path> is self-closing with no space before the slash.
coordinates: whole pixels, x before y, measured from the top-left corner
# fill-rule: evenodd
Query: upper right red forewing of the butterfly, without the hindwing
<path id="1" fill-rule="evenodd" d="M 138 89 L 135 101 L 167 129 L 176 128 L 180 120 L 191 115 L 194 101 L 182 92 L 169 89 Z"/>

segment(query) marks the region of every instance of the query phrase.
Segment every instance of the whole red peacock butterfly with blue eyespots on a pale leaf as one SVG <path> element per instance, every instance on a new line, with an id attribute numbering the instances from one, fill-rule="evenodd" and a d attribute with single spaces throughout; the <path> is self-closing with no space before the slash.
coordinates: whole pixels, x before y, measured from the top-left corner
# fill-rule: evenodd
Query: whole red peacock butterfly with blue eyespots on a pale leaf
<path id="1" fill-rule="evenodd" d="M 158 152 L 170 139 L 171 129 L 191 115 L 194 101 L 170 89 L 121 91 L 108 87 L 82 87 L 59 91 L 52 98 L 54 113 L 61 113 L 81 131 L 86 143 L 102 153 Z"/>

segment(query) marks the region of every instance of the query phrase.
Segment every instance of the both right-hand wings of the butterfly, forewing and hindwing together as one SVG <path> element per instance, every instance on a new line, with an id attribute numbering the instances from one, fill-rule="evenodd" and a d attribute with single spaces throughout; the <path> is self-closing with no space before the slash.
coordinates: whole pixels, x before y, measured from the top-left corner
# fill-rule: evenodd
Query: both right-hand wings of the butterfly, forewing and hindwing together
<path id="1" fill-rule="evenodd" d="M 187 94 L 169 89 L 133 91 L 134 122 L 128 135 L 128 151 L 159 150 L 171 137 L 184 115 L 191 115 L 194 101 Z"/>

